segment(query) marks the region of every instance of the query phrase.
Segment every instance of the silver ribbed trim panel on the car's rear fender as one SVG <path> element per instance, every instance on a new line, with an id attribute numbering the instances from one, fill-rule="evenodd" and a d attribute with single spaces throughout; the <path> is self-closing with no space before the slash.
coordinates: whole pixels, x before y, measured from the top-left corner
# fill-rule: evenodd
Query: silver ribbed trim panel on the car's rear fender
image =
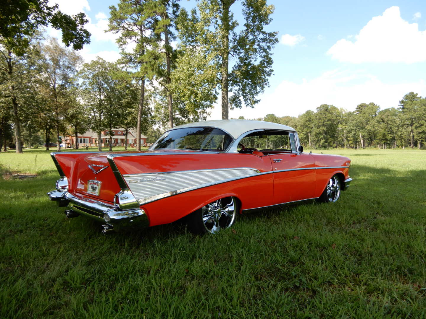
<path id="1" fill-rule="evenodd" d="M 222 168 L 149 174 L 126 174 L 124 180 L 141 203 L 184 191 L 214 185 L 218 182 L 249 177 L 260 173 L 255 168 Z"/>

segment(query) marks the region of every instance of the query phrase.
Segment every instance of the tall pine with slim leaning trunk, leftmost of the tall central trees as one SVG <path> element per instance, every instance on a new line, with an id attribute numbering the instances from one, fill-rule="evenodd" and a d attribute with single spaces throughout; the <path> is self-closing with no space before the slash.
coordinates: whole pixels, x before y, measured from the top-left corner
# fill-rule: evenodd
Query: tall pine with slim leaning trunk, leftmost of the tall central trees
<path id="1" fill-rule="evenodd" d="M 153 14 L 152 0 L 120 0 L 118 8 L 109 6 L 109 29 L 120 36 L 117 39 L 121 48 L 121 59 L 118 61 L 127 72 L 122 77 L 129 77 L 140 83 L 138 106 L 138 123 L 136 128 L 136 149 L 141 151 L 142 117 L 150 113 L 144 108 L 145 80 L 154 76 L 154 67 L 158 57 L 155 49 L 155 14 Z M 135 44 L 129 52 L 129 44 Z"/>

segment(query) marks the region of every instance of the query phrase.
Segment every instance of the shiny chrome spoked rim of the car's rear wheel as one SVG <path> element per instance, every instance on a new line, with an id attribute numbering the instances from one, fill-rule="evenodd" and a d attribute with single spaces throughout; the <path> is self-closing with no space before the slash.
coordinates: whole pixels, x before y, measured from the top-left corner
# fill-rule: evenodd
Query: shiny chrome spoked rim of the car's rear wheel
<path id="1" fill-rule="evenodd" d="M 233 224 L 237 205 L 234 197 L 218 199 L 201 208 L 201 216 L 206 231 L 215 234 Z"/>

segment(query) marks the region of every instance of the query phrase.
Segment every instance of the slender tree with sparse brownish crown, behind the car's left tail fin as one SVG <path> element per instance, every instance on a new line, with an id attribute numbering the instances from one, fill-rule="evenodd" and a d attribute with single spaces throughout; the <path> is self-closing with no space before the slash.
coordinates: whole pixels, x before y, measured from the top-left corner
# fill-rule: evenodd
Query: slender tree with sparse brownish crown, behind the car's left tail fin
<path id="1" fill-rule="evenodd" d="M 83 62 L 80 54 L 63 48 L 58 40 L 52 38 L 41 47 L 40 78 L 46 88 L 49 103 L 54 110 L 56 139 L 60 151 L 60 135 L 66 130 L 65 114 L 70 106 L 70 92 L 77 83 L 77 69 Z"/>

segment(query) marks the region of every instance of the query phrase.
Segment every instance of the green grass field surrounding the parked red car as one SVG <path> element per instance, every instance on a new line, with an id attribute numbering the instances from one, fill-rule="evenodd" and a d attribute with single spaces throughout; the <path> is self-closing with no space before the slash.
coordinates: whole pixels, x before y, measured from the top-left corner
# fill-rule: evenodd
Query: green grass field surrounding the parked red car
<path id="1" fill-rule="evenodd" d="M 0 153 L 0 170 L 38 174 L 0 179 L 0 318 L 426 317 L 426 151 L 316 152 L 352 160 L 338 202 L 214 236 L 102 236 L 49 201 L 49 152 Z"/>

